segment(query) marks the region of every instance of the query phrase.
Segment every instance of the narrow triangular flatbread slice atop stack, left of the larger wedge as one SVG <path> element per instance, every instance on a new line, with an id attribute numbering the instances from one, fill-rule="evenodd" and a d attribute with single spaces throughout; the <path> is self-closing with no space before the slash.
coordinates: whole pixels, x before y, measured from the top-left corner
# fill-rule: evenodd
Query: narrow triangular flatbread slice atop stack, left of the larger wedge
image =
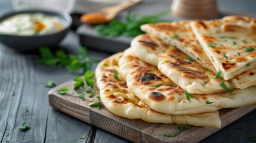
<path id="1" fill-rule="evenodd" d="M 205 52 L 203 52 L 192 29 L 190 29 L 189 23 L 190 21 L 175 21 L 172 23 L 144 24 L 140 28 L 146 33 L 158 36 L 166 43 L 177 46 L 178 49 L 198 63 L 217 73 L 211 61 L 208 60 Z"/>

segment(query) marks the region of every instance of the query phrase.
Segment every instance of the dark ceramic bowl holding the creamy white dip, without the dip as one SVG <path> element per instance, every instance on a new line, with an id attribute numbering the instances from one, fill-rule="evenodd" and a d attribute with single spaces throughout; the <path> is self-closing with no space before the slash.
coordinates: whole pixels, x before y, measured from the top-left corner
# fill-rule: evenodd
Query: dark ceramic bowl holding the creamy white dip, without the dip
<path id="1" fill-rule="evenodd" d="M 72 24 L 72 18 L 69 14 L 41 10 L 26 10 L 7 13 L 0 17 L 0 22 L 8 17 L 11 17 L 12 15 L 21 13 L 42 13 L 45 15 L 54 15 L 60 17 L 63 20 L 63 29 L 55 33 L 33 36 L 9 35 L 6 33 L 0 33 L 0 41 L 2 43 L 20 52 L 35 51 L 40 46 L 58 45 L 58 43 L 60 43 L 60 41 L 67 35 L 70 25 Z"/>

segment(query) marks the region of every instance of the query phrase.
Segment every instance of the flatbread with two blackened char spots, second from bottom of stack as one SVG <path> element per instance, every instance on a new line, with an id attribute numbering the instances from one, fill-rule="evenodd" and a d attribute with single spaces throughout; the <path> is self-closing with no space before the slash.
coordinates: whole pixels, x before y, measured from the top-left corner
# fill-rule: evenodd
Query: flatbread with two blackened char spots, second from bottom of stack
<path id="1" fill-rule="evenodd" d="M 139 60 L 131 49 L 124 52 L 119 60 L 120 72 L 129 71 L 124 76 L 132 94 L 155 111 L 165 114 L 196 114 L 217 111 L 220 108 L 235 108 L 256 103 L 256 86 L 235 89 L 219 94 L 195 95 L 178 87 L 166 85 L 166 77 L 156 68 Z M 162 85 L 159 85 L 162 83 Z M 187 95 L 187 96 L 186 96 Z M 190 97 L 190 98 L 188 98 Z M 189 101 L 190 100 L 190 101 Z"/>

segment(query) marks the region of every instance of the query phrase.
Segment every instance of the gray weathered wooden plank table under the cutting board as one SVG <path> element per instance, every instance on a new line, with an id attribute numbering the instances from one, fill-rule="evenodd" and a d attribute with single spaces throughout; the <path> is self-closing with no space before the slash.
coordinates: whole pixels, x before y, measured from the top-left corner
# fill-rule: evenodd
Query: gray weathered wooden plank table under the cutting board
<path id="1" fill-rule="evenodd" d="M 218 4 L 223 13 L 236 11 L 256 16 L 254 0 L 222 0 Z M 0 1 L 0 14 L 11 10 L 9 0 Z M 78 35 L 70 31 L 60 46 L 70 54 L 76 53 Z M 89 53 L 101 59 L 110 55 L 93 50 Z M 20 54 L 0 43 L 0 142 L 129 142 L 51 108 L 49 89 L 45 88 L 47 80 L 58 84 L 73 79 L 75 74 L 67 74 L 61 67 L 39 65 L 38 58 L 38 54 Z M 15 95 L 11 95 L 13 91 Z M 256 136 L 255 120 L 256 111 L 252 111 L 202 142 L 249 142 L 246 138 Z M 18 130 L 25 121 L 30 122 L 31 129 Z M 87 138 L 79 139 L 79 136 Z"/>

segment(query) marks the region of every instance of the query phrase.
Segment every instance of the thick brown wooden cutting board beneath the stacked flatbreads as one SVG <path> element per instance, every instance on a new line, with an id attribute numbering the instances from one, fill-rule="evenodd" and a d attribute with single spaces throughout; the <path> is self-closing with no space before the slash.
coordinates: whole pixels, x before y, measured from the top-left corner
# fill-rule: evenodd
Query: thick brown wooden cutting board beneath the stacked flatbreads
<path id="1" fill-rule="evenodd" d="M 64 86 L 69 87 L 67 94 L 58 94 L 58 90 Z M 48 92 L 48 100 L 51 107 L 132 142 L 199 142 L 220 130 L 217 128 L 193 126 L 191 129 L 180 131 L 178 126 L 181 125 L 148 123 L 140 119 L 130 120 L 119 117 L 110 113 L 103 104 L 101 104 L 99 110 L 91 108 L 88 104 L 92 101 L 97 101 L 97 98 L 85 96 L 85 101 L 82 101 L 72 86 L 73 81 L 69 81 L 51 89 Z M 95 95 L 99 95 L 98 90 L 96 92 Z M 245 116 L 245 114 L 255 110 L 255 108 L 256 105 L 249 105 L 240 108 L 221 109 L 219 111 L 222 123 L 221 128 L 235 122 L 235 120 Z M 169 138 L 163 136 L 163 133 L 177 133 L 177 136 Z"/>

